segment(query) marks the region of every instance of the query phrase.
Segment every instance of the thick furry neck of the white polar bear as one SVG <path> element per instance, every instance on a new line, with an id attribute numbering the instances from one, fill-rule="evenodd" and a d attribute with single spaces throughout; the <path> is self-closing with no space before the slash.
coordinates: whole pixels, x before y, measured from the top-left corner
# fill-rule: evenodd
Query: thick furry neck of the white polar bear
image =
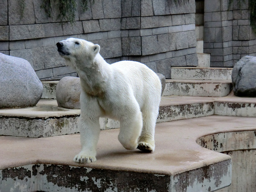
<path id="1" fill-rule="evenodd" d="M 105 84 L 110 77 L 111 68 L 110 64 L 108 64 L 99 53 L 95 56 L 92 63 L 82 63 L 82 65 L 77 65 L 77 73 L 80 77 L 81 87 L 88 95 L 104 95 L 106 92 Z"/>

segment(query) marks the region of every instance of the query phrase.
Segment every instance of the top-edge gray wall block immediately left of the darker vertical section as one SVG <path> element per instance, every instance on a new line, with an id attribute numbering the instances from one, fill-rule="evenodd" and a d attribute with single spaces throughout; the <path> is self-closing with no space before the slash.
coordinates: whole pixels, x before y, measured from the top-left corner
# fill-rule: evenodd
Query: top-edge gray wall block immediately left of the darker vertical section
<path id="1" fill-rule="evenodd" d="M 104 18 L 121 18 L 121 0 L 102 1 Z"/>

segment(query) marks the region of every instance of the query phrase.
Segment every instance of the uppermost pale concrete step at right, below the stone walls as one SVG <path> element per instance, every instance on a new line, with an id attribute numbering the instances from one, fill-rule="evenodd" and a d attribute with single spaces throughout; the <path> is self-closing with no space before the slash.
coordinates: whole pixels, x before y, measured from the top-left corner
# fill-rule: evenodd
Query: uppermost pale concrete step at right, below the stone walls
<path id="1" fill-rule="evenodd" d="M 171 67 L 172 79 L 231 80 L 233 68 Z"/>

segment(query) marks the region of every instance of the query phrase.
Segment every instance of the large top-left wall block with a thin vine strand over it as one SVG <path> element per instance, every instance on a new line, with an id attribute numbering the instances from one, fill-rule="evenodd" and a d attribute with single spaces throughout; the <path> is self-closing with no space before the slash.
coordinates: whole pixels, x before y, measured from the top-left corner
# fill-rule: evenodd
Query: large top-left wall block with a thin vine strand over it
<path id="1" fill-rule="evenodd" d="M 8 1 L 8 20 L 9 25 L 35 24 L 33 0 L 24 1 L 23 11 L 20 1 Z"/>

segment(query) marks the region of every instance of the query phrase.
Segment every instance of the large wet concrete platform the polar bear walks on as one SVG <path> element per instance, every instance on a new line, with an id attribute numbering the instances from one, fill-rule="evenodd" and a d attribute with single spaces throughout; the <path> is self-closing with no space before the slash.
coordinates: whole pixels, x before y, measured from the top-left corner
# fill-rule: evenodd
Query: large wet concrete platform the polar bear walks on
<path id="1" fill-rule="evenodd" d="M 125 150 L 118 142 L 118 129 L 104 130 L 97 161 L 89 164 L 73 162 L 81 147 L 79 134 L 36 139 L 0 136 L 0 186 L 2 191 L 20 191 L 20 186 L 23 191 L 49 192 L 216 191 L 231 183 L 231 157 L 204 148 L 205 144 L 216 146 L 218 139 L 220 148 L 255 148 L 251 145 L 256 143 L 255 121 L 255 117 L 211 115 L 158 123 L 152 153 Z M 219 135 L 231 132 L 235 138 Z M 252 137 L 244 134 L 244 142 L 236 137 L 240 132 Z M 195 142 L 198 139 L 201 146 Z"/>

